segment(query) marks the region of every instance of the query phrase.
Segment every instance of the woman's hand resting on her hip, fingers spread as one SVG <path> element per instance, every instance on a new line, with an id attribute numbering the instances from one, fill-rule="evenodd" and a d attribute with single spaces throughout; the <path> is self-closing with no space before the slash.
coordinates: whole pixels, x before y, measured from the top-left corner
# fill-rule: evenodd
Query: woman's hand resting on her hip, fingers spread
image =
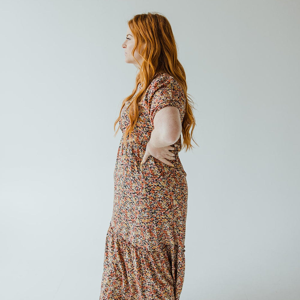
<path id="1" fill-rule="evenodd" d="M 164 146 L 164 147 L 155 147 L 151 144 L 151 141 L 147 143 L 146 151 L 143 156 L 141 165 L 144 164 L 148 157 L 152 155 L 154 158 L 158 159 L 159 161 L 163 162 L 164 164 L 174 167 L 174 165 L 169 160 L 175 159 L 175 154 L 170 150 L 174 150 L 175 148 L 172 146 Z"/>

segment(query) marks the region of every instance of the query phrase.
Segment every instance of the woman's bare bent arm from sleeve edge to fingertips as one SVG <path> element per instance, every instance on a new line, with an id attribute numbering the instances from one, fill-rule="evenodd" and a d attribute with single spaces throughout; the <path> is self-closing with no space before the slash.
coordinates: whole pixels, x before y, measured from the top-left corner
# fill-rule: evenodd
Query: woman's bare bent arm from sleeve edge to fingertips
<path id="1" fill-rule="evenodd" d="M 154 129 L 146 146 L 141 164 L 152 155 L 161 162 L 173 167 L 169 160 L 175 159 L 173 157 L 174 153 L 170 152 L 174 148 L 170 145 L 178 141 L 182 131 L 178 108 L 174 106 L 163 107 L 155 114 L 153 125 Z"/>

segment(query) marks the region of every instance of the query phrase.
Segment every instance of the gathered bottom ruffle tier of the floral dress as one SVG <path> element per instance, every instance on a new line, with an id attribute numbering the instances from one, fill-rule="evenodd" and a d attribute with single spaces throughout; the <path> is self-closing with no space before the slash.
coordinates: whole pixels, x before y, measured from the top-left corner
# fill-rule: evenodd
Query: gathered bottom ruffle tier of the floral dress
<path id="1" fill-rule="evenodd" d="M 179 300 L 185 249 L 149 251 L 125 240 L 109 226 L 99 300 Z"/>

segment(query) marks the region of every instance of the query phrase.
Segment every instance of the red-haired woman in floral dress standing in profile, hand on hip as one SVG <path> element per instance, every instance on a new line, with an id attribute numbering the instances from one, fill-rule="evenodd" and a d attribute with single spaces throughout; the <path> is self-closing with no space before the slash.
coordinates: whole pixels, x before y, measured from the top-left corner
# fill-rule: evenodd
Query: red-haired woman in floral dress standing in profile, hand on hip
<path id="1" fill-rule="evenodd" d="M 114 171 L 100 300 L 178 300 L 185 269 L 186 173 L 178 157 L 192 147 L 195 119 L 168 20 L 158 13 L 128 21 L 125 61 L 139 72 L 116 125 Z"/>

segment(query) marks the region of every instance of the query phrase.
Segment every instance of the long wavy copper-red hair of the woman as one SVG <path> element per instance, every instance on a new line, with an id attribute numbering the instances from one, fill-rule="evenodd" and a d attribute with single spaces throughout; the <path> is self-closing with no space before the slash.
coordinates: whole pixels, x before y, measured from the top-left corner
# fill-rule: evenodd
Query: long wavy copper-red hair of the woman
<path id="1" fill-rule="evenodd" d="M 132 140 L 131 133 L 134 130 L 139 116 L 139 103 L 143 99 L 149 84 L 158 73 L 168 73 L 179 82 L 186 99 L 185 115 L 182 121 L 182 147 L 185 148 L 185 151 L 191 149 L 193 147 L 191 140 L 198 146 L 193 137 L 193 130 L 196 125 L 193 116 L 194 103 L 193 100 L 187 96 L 190 94 L 187 94 L 186 76 L 182 64 L 177 59 L 177 44 L 169 21 L 160 13 L 149 12 L 135 15 L 128 21 L 128 26 L 135 39 L 135 45 L 131 52 L 133 57 L 137 47 L 139 53 L 143 45 L 145 45 L 145 48 L 143 52 L 140 53 L 143 58 L 142 64 L 139 64 L 136 58 L 134 58 L 140 65 L 139 72 L 136 76 L 136 85 L 131 95 L 126 97 L 122 102 L 119 117 L 114 124 L 115 135 L 120 128 L 119 126 L 116 130 L 116 125 L 121 118 L 121 111 L 126 101 L 131 100 L 128 107 L 130 125 L 126 128 L 123 142 L 125 144 L 127 143 L 127 136 L 129 136 L 129 141 Z M 133 98 L 139 83 L 141 83 L 141 89 Z"/>

